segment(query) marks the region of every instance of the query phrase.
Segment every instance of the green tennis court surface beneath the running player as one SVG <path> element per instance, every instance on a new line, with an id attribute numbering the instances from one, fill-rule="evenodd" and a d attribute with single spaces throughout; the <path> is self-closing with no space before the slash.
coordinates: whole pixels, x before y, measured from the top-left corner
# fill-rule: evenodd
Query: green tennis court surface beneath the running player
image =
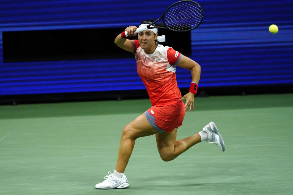
<path id="1" fill-rule="evenodd" d="M 199 143 L 161 160 L 154 136 L 136 140 L 129 187 L 96 190 L 113 173 L 121 130 L 150 101 L 0 106 L 0 194 L 293 194 L 293 94 L 195 99 L 178 139 L 214 121 L 226 151 Z"/>

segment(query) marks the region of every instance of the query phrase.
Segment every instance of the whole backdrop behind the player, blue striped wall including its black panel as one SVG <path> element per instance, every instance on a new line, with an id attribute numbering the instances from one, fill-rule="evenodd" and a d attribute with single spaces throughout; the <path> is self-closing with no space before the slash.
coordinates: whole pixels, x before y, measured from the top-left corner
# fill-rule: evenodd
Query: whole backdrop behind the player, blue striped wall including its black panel
<path id="1" fill-rule="evenodd" d="M 134 57 L 115 48 L 114 38 L 127 26 L 156 19 L 174 2 L 3 0 L 1 101 L 145 97 Z M 190 35 L 161 34 L 168 41 L 163 45 L 201 65 L 199 91 L 292 92 L 292 1 L 198 3 L 205 16 L 200 27 Z M 279 27 L 277 34 L 269 33 L 270 24 Z M 21 43 L 31 43 L 34 52 L 20 49 Z M 38 44 L 39 49 L 34 47 Z M 176 76 L 179 88 L 185 91 L 190 72 L 177 67 Z"/>

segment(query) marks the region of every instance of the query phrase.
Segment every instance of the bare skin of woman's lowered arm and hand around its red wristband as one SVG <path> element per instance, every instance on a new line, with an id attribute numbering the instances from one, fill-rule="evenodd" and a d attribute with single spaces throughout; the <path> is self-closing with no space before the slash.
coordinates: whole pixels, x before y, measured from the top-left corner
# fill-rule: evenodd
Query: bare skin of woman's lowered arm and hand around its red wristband
<path id="1" fill-rule="evenodd" d="M 182 55 L 180 61 L 176 64 L 184 69 L 188 69 L 191 71 L 191 82 L 198 83 L 201 77 L 201 66 L 197 64 L 197 62 L 193 61 L 192 59 Z M 180 100 L 186 99 L 185 102 L 185 110 L 189 107 L 189 111 L 194 110 L 194 93 L 188 92 L 185 94 Z"/>

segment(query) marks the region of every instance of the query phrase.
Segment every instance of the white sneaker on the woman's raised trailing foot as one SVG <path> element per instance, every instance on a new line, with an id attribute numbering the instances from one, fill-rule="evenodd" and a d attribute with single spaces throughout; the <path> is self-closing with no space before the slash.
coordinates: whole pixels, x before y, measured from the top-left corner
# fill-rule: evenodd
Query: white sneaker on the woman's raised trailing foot
<path id="1" fill-rule="evenodd" d="M 202 128 L 202 130 L 208 133 L 209 143 L 217 144 L 219 148 L 221 149 L 221 151 L 225 151 L 225 144 L 224 144 L 223 137 L 221 136 L 214 122 L 208 123 L 208 125 Z"/>

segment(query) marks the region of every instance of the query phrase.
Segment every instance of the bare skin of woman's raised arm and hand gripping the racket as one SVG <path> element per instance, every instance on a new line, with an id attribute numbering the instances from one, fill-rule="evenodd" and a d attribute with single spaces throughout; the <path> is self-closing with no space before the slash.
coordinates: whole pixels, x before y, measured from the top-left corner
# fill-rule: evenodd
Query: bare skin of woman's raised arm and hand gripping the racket
<path id="1" fill-rule="evenodd" d="M 136 29 L 137 29 L 137 27 L 131 26 L 131 27 L 127 27 L 125 29 L 125 31 L 127 32 L 128 35 L 131 34 L 131 36 L 136 36 L 136 33 L 134 33 L 136 31 Z M 133 52 L 133 49 L 134 49 L 133 42 L 131 40 L 129 40 L 129 39 L 122 38 L 121 34 L 117 35 L 114 43 L 118 47 L 120 47 L 120 48 L 122 48 L 122 49 L 124 49 L 126 51 Z"/>

